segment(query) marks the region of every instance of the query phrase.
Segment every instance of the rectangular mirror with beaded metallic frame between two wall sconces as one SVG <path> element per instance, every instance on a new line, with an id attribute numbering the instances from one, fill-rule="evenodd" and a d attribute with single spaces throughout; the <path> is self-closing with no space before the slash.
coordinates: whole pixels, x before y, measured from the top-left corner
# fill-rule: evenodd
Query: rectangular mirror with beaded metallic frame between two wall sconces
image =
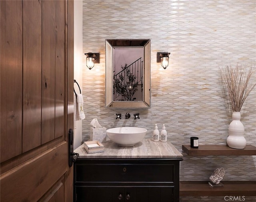
<path id="1" fill-rule="evenodd" d="M 106 108 L 150 108 L 150 39 L 106 39 Z"/>

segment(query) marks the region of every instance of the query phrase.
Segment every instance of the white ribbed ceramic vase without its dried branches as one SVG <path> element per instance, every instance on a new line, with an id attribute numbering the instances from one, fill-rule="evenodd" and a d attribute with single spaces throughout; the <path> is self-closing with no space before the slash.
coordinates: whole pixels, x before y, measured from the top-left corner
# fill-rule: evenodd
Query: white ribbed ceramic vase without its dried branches
<path id="1" fill-rule="evenodd" d="M 229 136 L 227 144 L 234 149 L 244 149 L 246 146 L 246 139 L 244 138 L 244 125 L 240 121 L 240 112 L 232 113 L 232 122 L 228 127 Z"/>

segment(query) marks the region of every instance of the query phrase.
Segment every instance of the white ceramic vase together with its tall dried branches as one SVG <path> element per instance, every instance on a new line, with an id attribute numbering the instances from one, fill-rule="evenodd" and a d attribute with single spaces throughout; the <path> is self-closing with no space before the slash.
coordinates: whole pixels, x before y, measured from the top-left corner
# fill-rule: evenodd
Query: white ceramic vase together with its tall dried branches
<path id="1" fill-rule="evenodd" d="M 244 125 L 240 121 L 241 108 L 244 101 L 256 86 L 256 83 L 250 83 L 250 78 L 255 70 L 251 67 L 242 67 L 242 65 L 226 65 L 220 69 L 222 81 L 224 82 L 228 96 L 232 104 L 232 122 L 228 127 L 227 144 L 230 148 L 244 149 L 246 139 L 244 138 Z M 254 80 L 255 82 L 255 80 Z"/>

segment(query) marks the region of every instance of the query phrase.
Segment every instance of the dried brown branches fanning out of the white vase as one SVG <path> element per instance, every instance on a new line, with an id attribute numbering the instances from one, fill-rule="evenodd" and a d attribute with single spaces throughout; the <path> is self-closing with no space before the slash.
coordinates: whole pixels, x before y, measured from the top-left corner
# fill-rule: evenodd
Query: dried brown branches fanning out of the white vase
<path id="1" fill-rule="evenodd" d="M 242 65 L 237 64 L 236 67 L 226 65 L 225 68 L 220 69 L 220 72 L 228 90 L 233 112 L 240 112 L 244 101 L 256 86 L 256 83 L 249 83 L 255 70 L 252 69 L 252 66 L 242 68 Z"/>

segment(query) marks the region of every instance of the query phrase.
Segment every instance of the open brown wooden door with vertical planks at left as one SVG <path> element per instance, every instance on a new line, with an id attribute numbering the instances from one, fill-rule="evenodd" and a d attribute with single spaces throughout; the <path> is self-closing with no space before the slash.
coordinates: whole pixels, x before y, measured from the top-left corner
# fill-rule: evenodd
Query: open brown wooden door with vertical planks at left
<path id="1" fill-rule="evenodd" d="M 72 202 L 72 0 L 0 0 L 0 201 Z"/>

